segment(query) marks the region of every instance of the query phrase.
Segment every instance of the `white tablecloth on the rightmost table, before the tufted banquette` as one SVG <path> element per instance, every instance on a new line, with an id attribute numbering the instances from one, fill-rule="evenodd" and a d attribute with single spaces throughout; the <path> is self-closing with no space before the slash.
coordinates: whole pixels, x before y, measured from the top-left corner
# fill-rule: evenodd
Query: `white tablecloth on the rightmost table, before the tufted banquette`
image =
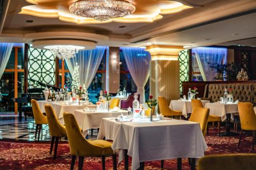
<path id="1" fill-rule="evenodd" d="M 210 109 L 210 115 L 221 116 L 221 121 L 224 122 L 227 116 L 231 114 L 231 120 L 234 119 L 233 114 L 238 114 L 238 104 L 220 104 L 220 103 L 206 103 L 205 108 Z"/>

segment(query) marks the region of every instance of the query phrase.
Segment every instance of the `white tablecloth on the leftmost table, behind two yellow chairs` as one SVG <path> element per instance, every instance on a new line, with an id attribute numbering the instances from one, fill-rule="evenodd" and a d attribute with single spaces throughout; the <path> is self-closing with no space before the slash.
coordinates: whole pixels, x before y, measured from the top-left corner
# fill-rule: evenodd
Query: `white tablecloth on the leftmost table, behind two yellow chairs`
<path id="1" fill-rule="evenodd" d="M 84 109 L 84 108 L 87 108 L 87 106 L 88 106 L 88 105 L 78 105 L 78 103 L 72 104 L 72 105 L 67 105 L 64 102 L 37 101 L 37 103 L 42 112 L 45 112 L 45 105 L 51 105 L 61 124 L 64 124 L 64 120 L 63 120 L 64 112 L 74 114 L 75 110 Z M 96 105 L 94 105 L 94 106 L 96 107 Z"/>

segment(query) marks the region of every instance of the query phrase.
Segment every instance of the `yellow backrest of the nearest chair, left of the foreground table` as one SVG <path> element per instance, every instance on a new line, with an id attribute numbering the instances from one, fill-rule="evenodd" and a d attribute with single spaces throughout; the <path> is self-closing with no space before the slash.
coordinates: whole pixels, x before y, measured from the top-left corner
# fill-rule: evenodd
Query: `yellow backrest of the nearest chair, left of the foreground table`
<path id="1" fill-rule="evenodd" d="M 93 146 L 82 135 L 76 122 L 75 116 L 70 113 L 63 113 L 67 136 L 69 140 L 70 153 L 76 156 L 93 156 Z"/>

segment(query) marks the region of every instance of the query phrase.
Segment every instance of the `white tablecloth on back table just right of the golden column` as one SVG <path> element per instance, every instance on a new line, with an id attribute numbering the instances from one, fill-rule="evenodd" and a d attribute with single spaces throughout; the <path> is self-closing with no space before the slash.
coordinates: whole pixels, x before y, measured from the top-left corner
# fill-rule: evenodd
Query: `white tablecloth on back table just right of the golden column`
<path id="1" fill-rule="evenodd" d="M 202 101 L 203 106 L 210 101 Z M 192 106 L 190 101 L 172 100 L 170 101 L 170 109 L 182 111 L 182 115 L 187 118 L 187 113 L 192 113 Z"/>

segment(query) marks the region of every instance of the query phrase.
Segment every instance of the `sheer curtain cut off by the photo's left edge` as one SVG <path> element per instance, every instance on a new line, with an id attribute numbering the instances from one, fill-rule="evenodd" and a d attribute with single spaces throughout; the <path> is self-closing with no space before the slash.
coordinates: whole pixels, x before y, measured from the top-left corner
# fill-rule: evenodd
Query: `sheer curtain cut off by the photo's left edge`
<path id="1" fill-rule="evenodd" d="M 0 42 L 0 79 L 2 78 L 5 67 L 8 63 L 12 52 L 13 43 L 2 43 Z"/>

